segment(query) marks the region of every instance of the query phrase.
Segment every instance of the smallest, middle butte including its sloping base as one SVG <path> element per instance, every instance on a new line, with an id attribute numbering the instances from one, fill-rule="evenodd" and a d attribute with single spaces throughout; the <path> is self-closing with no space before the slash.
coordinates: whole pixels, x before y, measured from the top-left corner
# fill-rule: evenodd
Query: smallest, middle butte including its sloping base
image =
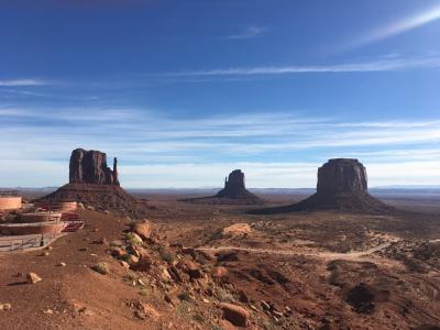
<path id="1" fill-rule="evenodd" d="M 244 184 L 244 173 L 241 169 L 232 170 L 224 178 L 224 188 L 211 197 L 185 199 L 185 201 L 200 204 L 227 204 L 227 205 L 258 205 L 264 201 L 249 191 Z"/>

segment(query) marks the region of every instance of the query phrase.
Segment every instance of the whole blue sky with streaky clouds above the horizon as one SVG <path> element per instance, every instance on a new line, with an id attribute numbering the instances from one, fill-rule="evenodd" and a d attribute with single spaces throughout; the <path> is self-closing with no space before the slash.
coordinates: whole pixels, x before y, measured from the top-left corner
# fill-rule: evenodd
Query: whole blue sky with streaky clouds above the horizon
<path id="1" fill-rule="evenodd" d="M 0 1 L 0 186 L 440 184 L 440 1 Z"/>

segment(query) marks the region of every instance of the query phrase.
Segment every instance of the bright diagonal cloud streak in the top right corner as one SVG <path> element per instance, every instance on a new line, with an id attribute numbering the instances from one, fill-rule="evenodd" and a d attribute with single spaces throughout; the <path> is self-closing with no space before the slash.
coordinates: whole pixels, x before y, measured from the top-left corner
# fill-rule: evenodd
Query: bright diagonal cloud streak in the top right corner
<path id="1" fill-rule="evenodd" d="M 437 6 L 419 12 L 415 15 L 399 20 L 397 22 L 392 22 L 384 26 L 380 26 L 378 29 L 375 29 L 363 36 L 359 36 L 350 43 L 349 47 L 371 44 L 374 42 L 386 40 L 407 31 L 424 26 L 439 19 L 440 6 Z"/>

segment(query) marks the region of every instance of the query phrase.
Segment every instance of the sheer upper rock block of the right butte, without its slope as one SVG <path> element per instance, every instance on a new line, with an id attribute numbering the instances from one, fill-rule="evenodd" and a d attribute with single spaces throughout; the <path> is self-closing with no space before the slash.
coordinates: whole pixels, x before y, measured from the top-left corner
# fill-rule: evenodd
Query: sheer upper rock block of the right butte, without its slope
<path id="1" fill-rule="evenodd" d="M 358 160 L 330 160 L 318 169 L 318 194 L 367 191 L 367 177 L 364 165 Z"/>

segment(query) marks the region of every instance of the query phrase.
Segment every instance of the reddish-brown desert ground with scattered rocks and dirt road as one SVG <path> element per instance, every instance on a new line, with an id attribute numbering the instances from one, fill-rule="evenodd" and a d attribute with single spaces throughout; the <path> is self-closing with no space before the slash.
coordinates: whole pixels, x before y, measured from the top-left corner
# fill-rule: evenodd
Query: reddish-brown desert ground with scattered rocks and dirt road
<path id="1" fill-rule="evenodd" d="M 261 206 L 198 205 L 194 195 L 144 194 L 154 238 L 131 219 L 80 210 L 86 227 L 48 249 L 0 254 L 1 329 L 440 329 L 438 197 L 381 196 L 406 212 L 246 213 Z M 301 196 L 266 194 L 278 206 Z M 63 263 L 63 264 L 62 264 Z M 105 263 L 106 274 L 91 270 Z M 42 280 L 30 285 L 23 274 Z M 189 275 L 188 275 L 189 274 Z"/>

